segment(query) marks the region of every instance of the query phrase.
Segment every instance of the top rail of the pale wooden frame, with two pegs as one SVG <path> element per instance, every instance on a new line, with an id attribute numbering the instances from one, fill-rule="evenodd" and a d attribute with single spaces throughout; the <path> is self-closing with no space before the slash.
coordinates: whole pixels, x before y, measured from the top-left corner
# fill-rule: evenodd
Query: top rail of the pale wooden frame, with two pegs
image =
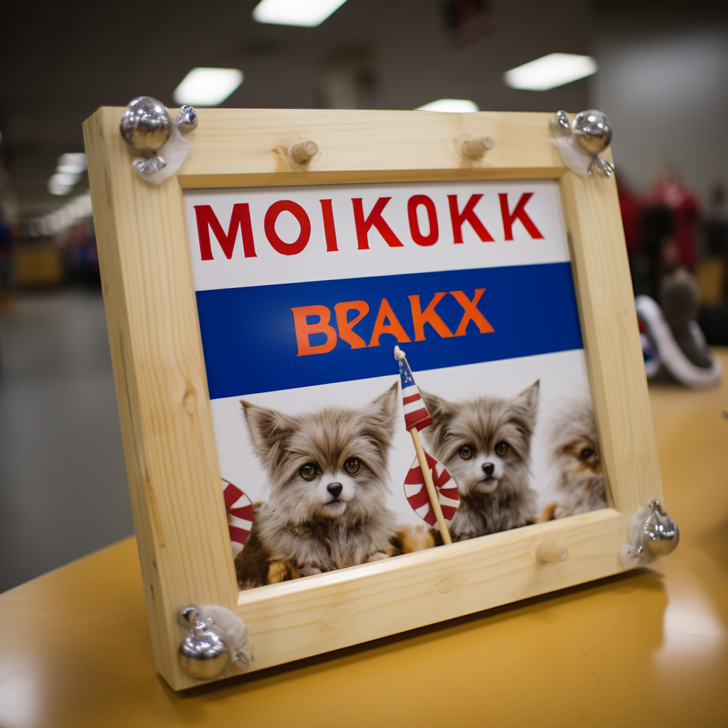
<path id="1" fill-rule="evenodd" d="M 119 116 L 122 109 L 118 110 Z M 289 171 L 475 169 L 521 177 L 529 170 L 563 171 L 547 139 L 550 114 L 440 114 L 429 111 L 205 109 L 189 135 L 195 149 L 178 174 L 234 175 Z M 462 154 L 462 143 L 491 135 L 483 159 Z M 314 141 L 319 154 L 298 165 L 288 150 Z M 198 154 L 204 149 L 203 154 Z"/>

